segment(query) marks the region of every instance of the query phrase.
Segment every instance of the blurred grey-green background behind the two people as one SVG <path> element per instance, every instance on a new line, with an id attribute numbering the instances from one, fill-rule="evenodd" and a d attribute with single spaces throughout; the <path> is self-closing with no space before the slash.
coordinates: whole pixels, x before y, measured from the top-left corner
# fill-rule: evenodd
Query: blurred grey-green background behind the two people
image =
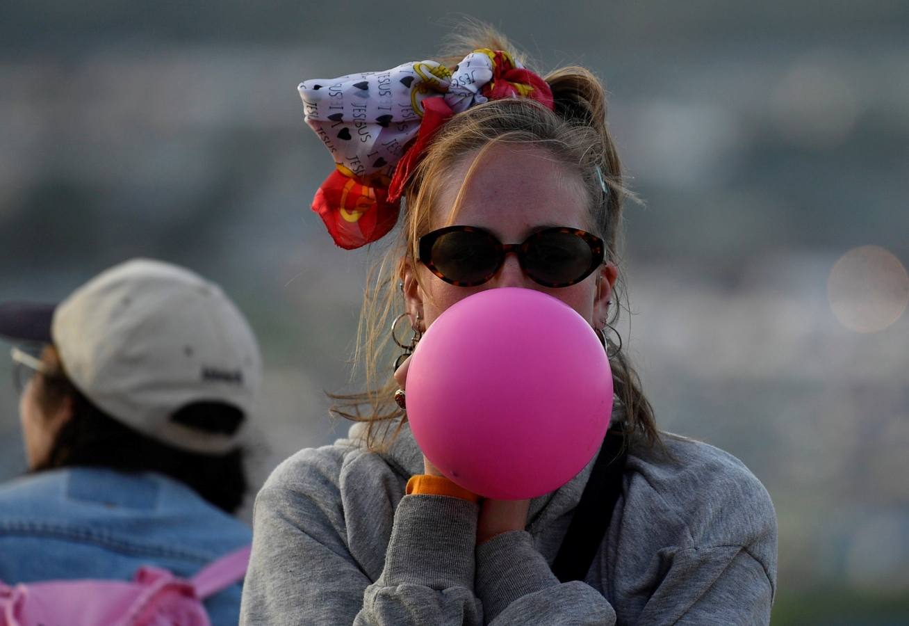
<path id="1" fill-rule="evenodd" d="M 664 429 L 770 491 L 774 624 L 906 623 L 909 3 L 512 6 L 457 9 L 611 93 L 645 203 L 619 331 Z M 296 85 L 433 56 L 449 8 L 4 3 L 0 299 L 63 298 L 128 257 L 194 268 L 263 344 L 256 486 L 335 439 L 324 391 L 347 386 L 376 251 L 309 211 L 331 160 Z M 16 401 L 0 386 L 0 478 L 25 467 Z"/>

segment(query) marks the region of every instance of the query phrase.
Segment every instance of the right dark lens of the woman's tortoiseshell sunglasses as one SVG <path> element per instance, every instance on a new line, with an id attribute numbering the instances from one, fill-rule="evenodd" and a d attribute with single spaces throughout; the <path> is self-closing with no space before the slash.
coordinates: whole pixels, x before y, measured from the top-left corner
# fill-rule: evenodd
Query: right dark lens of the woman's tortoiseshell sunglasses
<path id="1" fill-rule="evenodd" d="M 594 252 L 572 232 L 547 230 L 531 237 L 524 250 L 525 271 L 552 287 L 572 285 L 590 274 Z"/>

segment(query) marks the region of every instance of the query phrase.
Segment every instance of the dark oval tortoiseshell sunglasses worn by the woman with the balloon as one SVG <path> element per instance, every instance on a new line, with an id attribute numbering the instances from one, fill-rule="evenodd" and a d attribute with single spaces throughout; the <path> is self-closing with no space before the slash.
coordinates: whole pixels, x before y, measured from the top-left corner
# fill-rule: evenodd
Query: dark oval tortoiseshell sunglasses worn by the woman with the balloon
<path id="1" fill-rule="evenodd" d="M 550 227 L 519 244 L 504 244 L 472 226 L 439 228 L 420 237 L 419 261 L 435 276 L 458 287 L 482 285 L 514 252 L 524 273 L 544 287 L 570 287 L 603 263 L 603 239 L 584 230 Z"/>

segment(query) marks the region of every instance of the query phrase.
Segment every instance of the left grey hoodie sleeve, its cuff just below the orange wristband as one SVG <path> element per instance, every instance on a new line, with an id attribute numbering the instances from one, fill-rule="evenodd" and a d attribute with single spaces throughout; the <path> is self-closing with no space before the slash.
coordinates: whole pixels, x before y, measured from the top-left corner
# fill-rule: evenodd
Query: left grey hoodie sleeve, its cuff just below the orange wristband
<path id="1" fill-rule="evenodd" d="M 338 455 L 305 450 L 275 470 L 259 492 L 240 623 L 482 624 L 474 596 L 477 505 L 405 496 L 394 520 L 387 520 L 368 505 L 394 497 L 375 488 L 381 480 L 361 475 L 369 492 L 347 493 L 344 500 L 365 508 L 345 508 L 343 463 Z M 355 558 L 348 524 L 389 522 L 384 563 L 376 569 Z"/>

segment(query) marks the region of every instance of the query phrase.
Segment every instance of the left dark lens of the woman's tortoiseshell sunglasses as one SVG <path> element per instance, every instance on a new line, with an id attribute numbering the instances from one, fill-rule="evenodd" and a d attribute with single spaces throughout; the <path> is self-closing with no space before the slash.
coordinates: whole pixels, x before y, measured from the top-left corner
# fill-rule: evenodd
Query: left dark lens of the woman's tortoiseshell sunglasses
<path id="1" fill-rule="evenodd" d="M 430 259 L 446 280 L 471 286 L 494 275 L 500 255 L 495 240 L 485 233 L 453 230 L 435 239 Z"/>

